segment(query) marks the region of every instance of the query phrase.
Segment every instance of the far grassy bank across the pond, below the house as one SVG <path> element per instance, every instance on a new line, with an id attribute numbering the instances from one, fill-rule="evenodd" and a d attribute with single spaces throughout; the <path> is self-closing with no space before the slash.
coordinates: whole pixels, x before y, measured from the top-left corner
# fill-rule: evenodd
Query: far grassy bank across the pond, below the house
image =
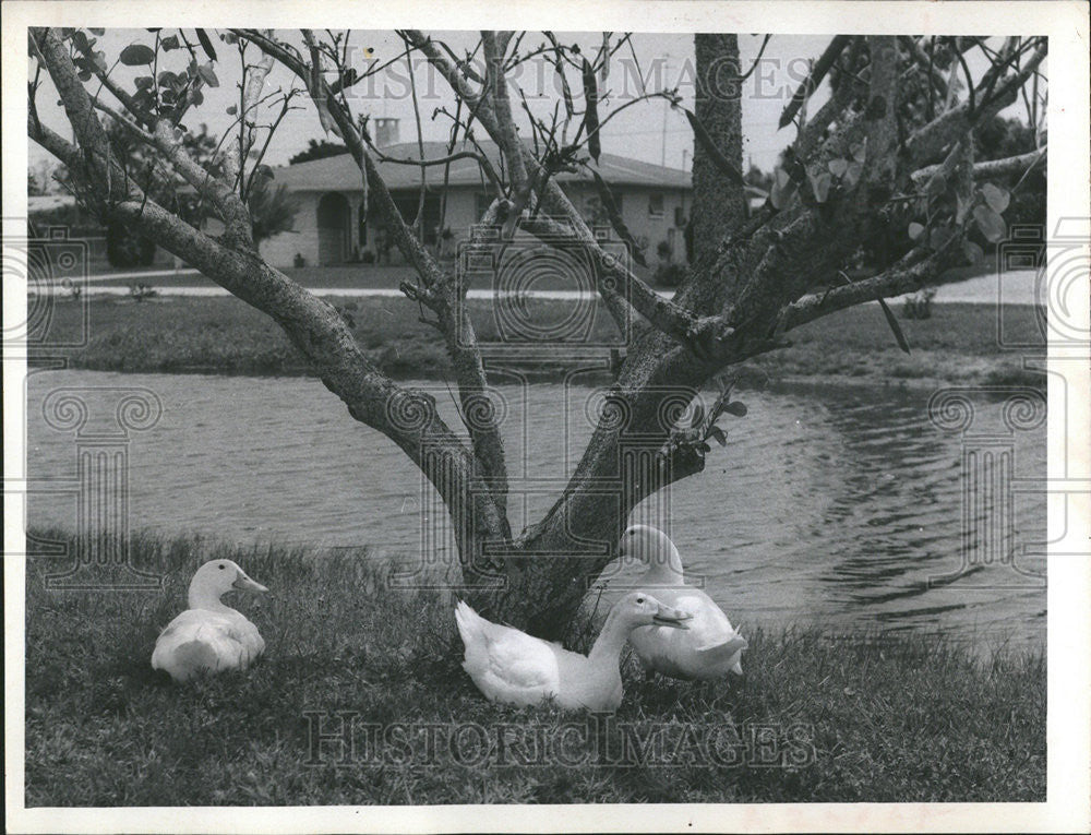
<path id="1" fill-rule="evenodd" d="M 419 310 L 398 298 L 331 298 L 351 324 L 357 341 L 385 372 L 397 378 L 439 378 L 448 359 L 436 331 L 419 321 Z M 88 339 L 64 351 L 73 367 L 108 371 L 226 374 L 307 373 L 298 351 L 267 317 L 233 298 L 159 297 L 143 302 L 94 298 Z M 561 321 L 573 302 L 531 300 L 542 319 Z M 469 302 L 482 341 L 497 339 L 497 321 L 487 301 Z M 1005 337 L 1034 343 L 1034 310 L 1004 311 Z M 68 342 L 80 333 L 80 302 L 59 301 L 50 335 Z M 923 321 L 900 320 L 912 353 L 898 349 L 882 312 L 862 306 L 793 331 L 791 348 L 765 355 L 744 368 L 743 382 L 825 382 L 831 378 L 866 384 L 1044 385 L 1044 375 L 1022 369 L 1022 354 L 997 344 L 997 311 L 984 305 L 935 305 Z M 615 342 L 616 330 L 599 308 L 591 337 Z M 50 351 L 56 354 L 57 351 Z M 567 366 L 532 370 L 559 375 Z"/>

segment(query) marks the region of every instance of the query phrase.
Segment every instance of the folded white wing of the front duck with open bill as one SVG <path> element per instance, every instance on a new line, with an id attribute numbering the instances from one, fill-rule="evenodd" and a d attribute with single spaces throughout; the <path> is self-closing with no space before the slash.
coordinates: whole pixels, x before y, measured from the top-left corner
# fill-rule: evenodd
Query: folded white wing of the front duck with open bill
<path id="1" fill-rule="evenodd" d="M 455 621 L 466 647 L 463 669 L 487 699 L 535 705 L 556 695 L 560 673 L 555 647 L 488 621 L 461 601 L 455 607 Z"/>

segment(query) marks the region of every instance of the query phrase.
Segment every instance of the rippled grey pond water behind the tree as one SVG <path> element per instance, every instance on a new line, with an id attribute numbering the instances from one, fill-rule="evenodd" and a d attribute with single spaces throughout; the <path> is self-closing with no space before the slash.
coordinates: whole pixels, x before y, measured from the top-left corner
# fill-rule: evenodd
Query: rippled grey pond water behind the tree
<path id="1" fill-rule="evenodd" d="M 446 386 L 420 385 L 457 425 Z M 312 380 L 36 372 L 27 389 L 32 479 L 76 474 L 75 433 L 43 417 L 50 392 L 80 390 L 91 432 L 96 416 L 109 428 L 118 390 L 134 387 L 154 393 L 163 413 L 152 428 L 130 433 L 131 529 L 241 544 L 367 545 L 376 558 L 409 561 L 421 552 L 422 516 L 433 502 L 419 473 Z M 512 502 L 519 529 L 549 506 L 550 486 L 575 466 L 596 393 L 556 383 L 500 392 L 513 492 L 521 496 Z M 1045 475 L 1044 422 L 1012 429 L 1005 404 L 980 394 L 971 395 L 972 438 L 930 420 L 928 392 L 738 396 L 747 416 L 721 419 L 727 449 L 714 449 L 703 475 L 673 486 L 664 523 L 688 576 L 733 622 L 744 631 L 818 624 L 837 633 L 943 631 L 979 646 L 1044 643 L 1045 559 L 1035 552 L 1044 550 L 1036 544 L 1045 540 L 1045 497 L 1020 488 Z M 1000 450 L 1010 501 L 964 502 L 963 468 L 982 485 L 974 494 L 984 496 L 981 462 Z M 75 528 L 72 494 L 32 494 L 28 508 L 29 525 Z M 611 585 L 622 585 L 632 566 L 612 575 Z"/>

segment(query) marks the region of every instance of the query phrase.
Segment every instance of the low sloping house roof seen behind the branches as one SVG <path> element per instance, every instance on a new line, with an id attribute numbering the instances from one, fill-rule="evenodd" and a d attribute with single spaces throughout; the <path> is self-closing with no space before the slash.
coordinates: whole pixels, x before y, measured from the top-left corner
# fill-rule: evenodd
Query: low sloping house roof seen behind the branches
<path id="1" fill-rule="evenodd" d="M 500 152 L 495 143 L 481 143 L 481 148 L 490 162 L 499 168 Z M 460 150 L 460 146 L 459 148 Z M 384 147 L 387 156 L 400 159 L 419 159 L 420 152 L 416 142 L 403 142 Z M 424 158 L 439 159 L 447 155 L 446 143 L 425 142 Z M 595 164 L 591 163 L 594 166 Z M 415 165 L 375 160 L 375 166 L 386 182 L 388 189 L 413 189 L 420 186 L 420 168 Z M 616 154 L 601 154 L 597 166 L 599 176 L 611 186 L 648 186 L 667 189 L 692 188 L 691 175 L 678 168 L 642 163 Z M 358 191 L 361 188 L 360 170 L 349 154 L 312 159 L 296 165 L 281 166 L 274 169 L 274 182 L 286 186 L 290 191 Z M 428 183 L 439 187 L 443 182 L 443 166 L 430 166 L 427 169 Z M 591 182 L 590 174 L 562 172 L 558 176 L 562 182 Z M 451 186 L 480 186 L 482 176 L 478 164 L 469 157 L 456 159 L 451 164 L 447 182 Z"/>

